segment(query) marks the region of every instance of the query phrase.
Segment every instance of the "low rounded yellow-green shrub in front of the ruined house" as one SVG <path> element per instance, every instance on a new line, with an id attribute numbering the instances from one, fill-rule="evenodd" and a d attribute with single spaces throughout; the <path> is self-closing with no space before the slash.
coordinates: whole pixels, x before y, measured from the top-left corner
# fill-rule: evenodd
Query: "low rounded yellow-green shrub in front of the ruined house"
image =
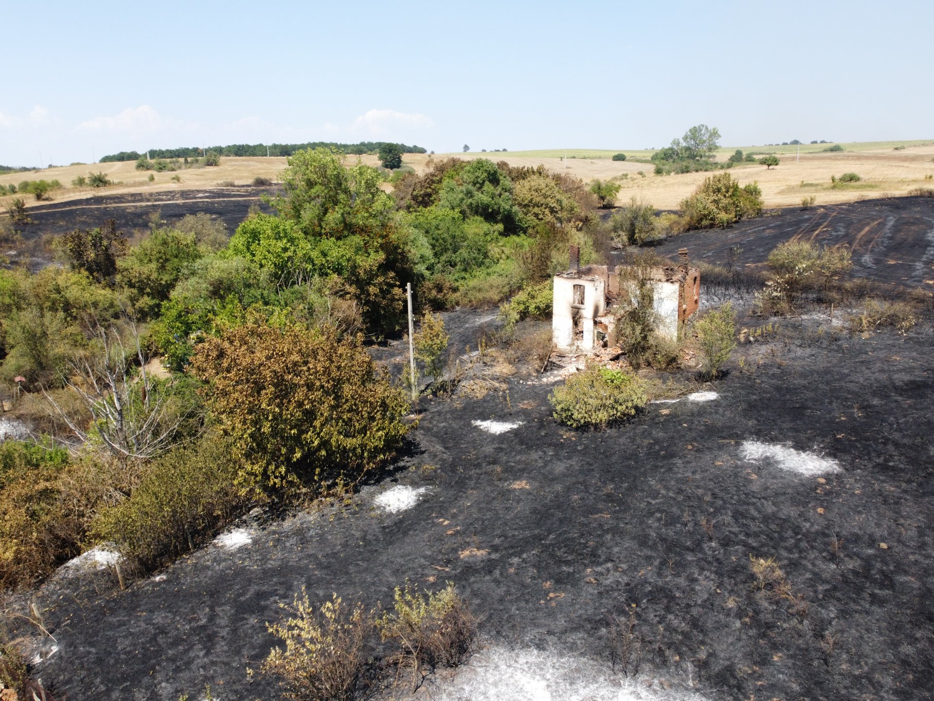
<path id="1" fill-rule="evenodd" d="M 648 402 L 644 382 L 599 365 L 574 373 L 548 396 L 555 419 L 572 428 L 604 428 L 625 421 Z"/>

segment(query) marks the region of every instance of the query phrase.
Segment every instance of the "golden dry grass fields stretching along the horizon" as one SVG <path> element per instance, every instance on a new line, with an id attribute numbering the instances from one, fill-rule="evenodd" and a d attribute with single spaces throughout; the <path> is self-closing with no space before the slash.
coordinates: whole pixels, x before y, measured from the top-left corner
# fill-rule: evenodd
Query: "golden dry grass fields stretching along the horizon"
<path id="1" fill-rule="evenodd" d="M 871 146 L 877 146 L 872 144 Z M 837 204 L 853 202 L 860 199 L 903 195 L 916 187 L 934 188 L 934 143 L 925 145 L 906 146 L 895 150 L 890 146 L 860 150 L 853 148 L 856 145 L 847 145 L 847 150 L 835 153 L 809 152 L 801 153 L 800 158 L 794 153 L 780 153 L 781 164 L 767 169 L 764 165 L 742 164 L 730 170 L 741 184 L 757 181 L 762 188 L 763 197 L 767 207 L 794 207 L 800 206 L 801 198 L 814 195 L 816 204 Z M 781 148 L 781 147 L 777 147 Z M 851 150 L 851 148 L 853 150 Z M 545 155 L 522 155 L 506 152 L 481 153 L 450 153 L 436 154 L 406 154 L 403 158 L 405 165 L 410 165 L 418 172 L 425 169 L 430 158 L 440 159 L 447 156 L 459 158 L 489 158 L 493 161 L 506 161 L 509 165 L 545 165 L 546 167 L 561 171 L 564 170 L 585 180 L 591 179 L 617 179 L 621 184 L 617 204 L 624 203 L 630 197 L 637 197 L 644 202 L 651 203 L 659 209 L 674 209 L 678 203 L 698 186 L 710 173 L 687 173 L 683 175 L 656 176 L 653 174 L 654 166 L 648 163 L 637 163 L 629 160 L 616 162 L 608 157 L 596 157 L 600 151 L 590 151 L 594 158 L 577 156 L 568 158 L 556 157 L 558 151 L 543 151 Z M 575 154 L 573 150 L 569 153 Z M 588 151 L 578 151 L 582 154 Z M 612 154 L 612 151 L 605 153 Z M 632 151 L 633 154 L 643 155 Z M 726 156 L 720 154 L 719 158 Z M 347 164 L 356 163 L 356 156 L 347 158 Z M 361 161 L 367 165 L 377 165 L 375 156 L 361 156 Z M 191 168 L 176 172 L 155 173 L 152 171 L 139 171 L 134 162 L 105 163 L 93 165 L 68 165 L 47 168 L 26 173 L 9 173 L 0 176 L 0 184 L 19 184 L 22 180 L 58 179 L 64 189 L 53 191 L 54 201 L 64 202 L 82 198 L 94 197 L 104 194 L 141 193 L 161 191 L 205 190 L 222 187 L 220 183 L 233 182 L 235 185 L 247 185 L 256 177 L 276 179 L 286 165 L 285 158 L 273 157 L 225 157 L 216 167 Z M 106 173 L 115 184 L 105 188 L 74 188 L 72 179 L 78 176 L 87 176 L 89 172 L 101 171 Z M 642 171 L 643 175 L 639 172 Z M 149 173 L 154 181 L 149 182 Z M 838 188 L 831 189 L 830 177 L 841 176 L 843 173 L 853 172 L 862 180 L 856 183 L 846 183 Z M 180 182 L 172 180 L 174 176 Z M 928 178 L 926 178 L 928 177 Z M 15 196 L 15 195 L 14 195 Z M 0 198 L 0 207 L 6 208 L 12 196 Z M 35 202 L 33 195 L 23 195 L 27 204 L 32 206 Z"/>

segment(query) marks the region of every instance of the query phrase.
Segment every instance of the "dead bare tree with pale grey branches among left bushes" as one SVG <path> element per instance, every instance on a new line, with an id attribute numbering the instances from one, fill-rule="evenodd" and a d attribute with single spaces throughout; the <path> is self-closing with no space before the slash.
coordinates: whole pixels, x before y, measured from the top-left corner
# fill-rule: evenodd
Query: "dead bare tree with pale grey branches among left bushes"
<path id="1" fill-rule="evenodd" d="M 164 383 L 149 372 L 135 324 L 128 320 L 125 328 L 121 333 L 116 325 L 105 328 L 93 320 L 92 334 L 99 348 L 72 358 L 64 370 L 65 386 L 92 415 L 88 426 L 43 390 L 53 412 L 83 443 L 100 441 L 121 462 L 145 460 L 165 451 L 186 418 Z M 132 340 L 129 348 L 123 338 L 127 333 Z"/>

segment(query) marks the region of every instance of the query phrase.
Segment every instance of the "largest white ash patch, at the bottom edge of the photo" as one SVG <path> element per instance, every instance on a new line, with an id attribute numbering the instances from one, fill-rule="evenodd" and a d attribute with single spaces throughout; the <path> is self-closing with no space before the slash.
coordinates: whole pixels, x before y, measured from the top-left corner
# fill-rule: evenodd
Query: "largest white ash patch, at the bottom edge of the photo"
<path id="1" fill-rule="evenodd" d="M 439 701 L 708 701 L 666 681 L 669 690 L 658 680 L 613 675 L 606 665 L 587 658 L 494 646 L 474 654 L 451 679 L 440 681 L 432 697 Z"/>

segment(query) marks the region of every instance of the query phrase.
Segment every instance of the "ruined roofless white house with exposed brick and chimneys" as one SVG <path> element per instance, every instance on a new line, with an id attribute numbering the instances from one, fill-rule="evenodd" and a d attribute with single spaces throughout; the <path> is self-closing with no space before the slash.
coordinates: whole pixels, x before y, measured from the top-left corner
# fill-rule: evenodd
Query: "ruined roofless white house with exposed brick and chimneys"
<path id="1" fill-rule="evenodd" d="M 686 249 L 679 250 L 678 254 L 677 267 L 658 265 L 647 272 L 652 304 L 658 316 L 656 330 L 672 340 L 697 312 L 701 300 L 701 271 L 688 265 Z M 582 268 L 579 261 L 580 250 L 572 246 L 571 269 L 555 276 L 552 340 L 565 352 L 590 352 L 615 346 L 615 312 L 630 303 L 634 283 L 627 279 L 624 266 L 587 265 Z"/>

